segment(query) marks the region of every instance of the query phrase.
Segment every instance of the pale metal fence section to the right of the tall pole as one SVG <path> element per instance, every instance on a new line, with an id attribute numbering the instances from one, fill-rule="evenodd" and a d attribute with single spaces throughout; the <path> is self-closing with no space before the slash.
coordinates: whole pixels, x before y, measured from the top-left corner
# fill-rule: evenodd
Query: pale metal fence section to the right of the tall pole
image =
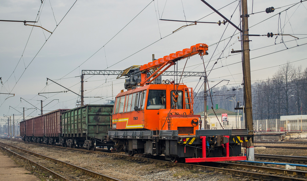
<path id="1" fill-rule="evenodd" d="M 254 131 L 307 131 L 307 119 L 265 119 L 254 120 Z"/>

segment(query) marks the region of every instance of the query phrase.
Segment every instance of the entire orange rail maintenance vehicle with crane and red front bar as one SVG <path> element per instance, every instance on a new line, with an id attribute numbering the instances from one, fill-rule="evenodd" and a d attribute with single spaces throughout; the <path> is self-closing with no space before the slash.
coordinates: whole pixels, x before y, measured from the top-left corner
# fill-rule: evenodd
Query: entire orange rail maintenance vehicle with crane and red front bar
<path id="1" fill-rule="evenodd" d="M 193 89 L 161 79 L 177 61 L 208 55 L 207 51 L 208 45 L 200 43 L 122 72 L 119 77 L 127 77 L 127 91 L 115 98 L 114 131 L 108 133 L 114 149 L 130 155 L 164 155 L 173 162 L 246 160 L 239 154 L 253 139 L 247 129 L 199 130 L 202 121 L 193 114 Z"/>

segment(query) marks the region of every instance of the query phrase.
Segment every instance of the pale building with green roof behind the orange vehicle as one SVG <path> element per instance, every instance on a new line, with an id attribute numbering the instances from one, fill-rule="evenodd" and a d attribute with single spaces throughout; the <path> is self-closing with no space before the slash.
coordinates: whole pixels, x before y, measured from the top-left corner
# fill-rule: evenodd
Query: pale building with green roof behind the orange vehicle
<path id="1" fill-rule="evenodd" d="M 214 110 L 214 111 L 213 111 Z M 222 109 L 222 108 L 219 108 L 218 104 L 216 104 L 216 107 L 214 109 L 208 109 L 208 106 L 207 106 L 207 124 L 210 126 L 210 129 L 222 129 L 221 128 L 221 125 L 222 126 L 225 126 L 224 129 L 242 129 L 245 127 L 243 121 L 241 121 L 241 117 L 242 117 L 242 114 L 239 113 L 236 113 L 236 112 L 233 112 L 233 111 L 229 111 L 229 110 L 226 110 L 226 109 Z M 215 112 L 215 114 L 214 114 Z M 200 115 L 201 119 L 203 120 L 203 123 L 204 123 L 204 111 L 202 112 L 199 112 L 199 113 L 194 113 L 195 115 Z M 222 114 L 227 114 L 227 122 L 223 122 L 222 121 Z M 217 119 L 216 118 L 219 119 Z M 224 118 L 225 120 L 225 118 Z M 220 125 L 220 123 L 221 125 Z M 202 125 L 202 128 L 201 129 L 204 129 L 204 124 Z"/>

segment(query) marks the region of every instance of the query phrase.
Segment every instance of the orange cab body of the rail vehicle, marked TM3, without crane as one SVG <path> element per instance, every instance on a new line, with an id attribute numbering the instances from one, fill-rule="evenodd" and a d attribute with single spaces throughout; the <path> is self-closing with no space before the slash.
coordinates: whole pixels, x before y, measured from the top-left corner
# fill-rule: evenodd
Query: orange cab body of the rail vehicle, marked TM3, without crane
<path id="1" fill-rule="evenodd" d="M 176 92 L 176 89 L 179 92 L 179 97 L 175 107 L 172 94 Z M 163 98 L 160 101 L 164 100 L 165 102 L 162 101 L 157 105 L 156 102 L 159 101 L 157 97 L 161 98 L 162 96 L 153 96 L 156 92 L 162 92 Z M 180 135 L 194 135 L 195 130 L 198 129 L 200 116 L 193 115 L 192 92 L 192 88 L 183 84 L 145 85 L 121 92 L 116 96 L 113 108 L 112 129 L 178 130 Z M 133 96 L 134 93 L 137 93 L 135 97 Z M 129 99 L 130 96 L 132 96 L 131 100 Z M 140 105 L 131 104 L 130 101 L 135 101 Z M 135 106 L 138 106 L 139 109 L 134 110 Z M 194 124 L 192 124 L 192 120 Z"/>

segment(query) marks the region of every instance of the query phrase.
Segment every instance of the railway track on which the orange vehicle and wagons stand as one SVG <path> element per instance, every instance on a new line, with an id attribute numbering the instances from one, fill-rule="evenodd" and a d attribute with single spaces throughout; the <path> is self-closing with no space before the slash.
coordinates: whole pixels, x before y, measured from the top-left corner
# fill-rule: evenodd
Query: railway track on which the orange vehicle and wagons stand
<path id="1" fill-rule="evenodd" d="M 14 140 L 15 141 L 15 140 Z M 16 140 L 21 141 L 21 140 Z M 23 142 L 23 141 L 22 141 Z M 37 144 L 37 143 L 33 143 Z M 41 145 L 41 144 L 39 144 Z M 262 179 L 262 180 L 305 180 L 307 181 L 307 172 L 304 171 L 293 171 L 293 170 L 286 170 L 280 168 L 269 168 L 269 167 L 261 167 L 261 166 L 254 166 L 254 165 L 247 165 L 247 164 L 235 164 L 235 163 L 224 163 L 224 162 L 208 162 L 199 164 L 185 164 L 185 163 L 173 163 L 164 160 L 156 160 L 151 158 L 145 157 L 137 157 L 137 156 L 128 156 L 124 154 L 118 153 L 106 153 L 106 152 L 99 152 L 99 151 L 91 151 L 86 149 L 76 149 L 76 148 L 66 148 L 61 146 L 53 146 L 53 145 L 45 145 L 50 147 L 57 147 L 62 149 L 70 149 L 76 150 L 86 153 L 95 153 L 100 155 L 106 156 L 117 156 L 121 158 L 128 158 L 132 160 L 140 160 L 140 161 L 147 161 L 147 162 L 154 162 L 165 164 L 168 166 L 177 166 L 177 167 L 187 167 L 193 169 L 200 169 L 200 170 L 209 170 L 215 172 L 223 172 L 229 175 L 236 175 L 240 177 L 246 178 L 253 178 L 253 179 Z"/>

